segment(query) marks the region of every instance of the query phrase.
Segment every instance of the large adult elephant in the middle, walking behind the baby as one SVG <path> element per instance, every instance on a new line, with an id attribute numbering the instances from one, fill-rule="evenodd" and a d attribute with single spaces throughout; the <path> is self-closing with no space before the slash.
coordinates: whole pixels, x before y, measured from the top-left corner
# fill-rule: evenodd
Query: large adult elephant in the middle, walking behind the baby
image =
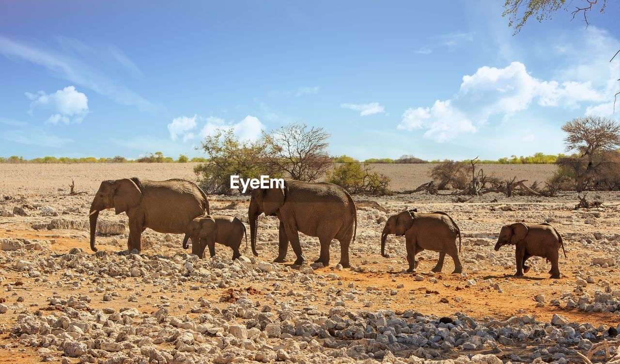
<path id="1" fill-rule="evenodd" d="M 247 217 L 252 252 L 256 256 L 256 224 L 261 213 L 280 219 L 280 242 L 275 262 L 286 261 L 288 242 L 297 255 L 295 264 L 306 261 L 299 245 L 298 232 L 301 232 L 316 236 L 321 242 L 321 255 L 315 262 L 329 265 L 329 244 L 332 239 L 337 239 L 340 242 L 340 264 L 350 267 L 348 248 L 355 241 L 357 214 L 355 202 L 342 187 L 327 182 L 288 179 L 283 188 L 252 190 Z"/>

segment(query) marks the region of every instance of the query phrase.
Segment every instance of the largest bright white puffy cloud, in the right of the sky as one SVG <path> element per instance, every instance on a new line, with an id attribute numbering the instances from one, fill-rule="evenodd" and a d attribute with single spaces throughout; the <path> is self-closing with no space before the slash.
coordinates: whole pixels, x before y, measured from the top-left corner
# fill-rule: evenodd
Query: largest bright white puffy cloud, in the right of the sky
<path id="1" fill-rule="evenodd" d="M 426 129 L 425 138 L 441 143 L 460 133 L 475 133 L 491 117 L 506 118 L 525 110 L 534 100 L 543 107 L 574 109 L 584 102 L 601 102 L 604 95 L 590 82 L 541 81 L 520 62 L 505 68 L 484 66 L 471 76 L 463 76 L 453 99 L 405 110 L 398 128 Z"/>

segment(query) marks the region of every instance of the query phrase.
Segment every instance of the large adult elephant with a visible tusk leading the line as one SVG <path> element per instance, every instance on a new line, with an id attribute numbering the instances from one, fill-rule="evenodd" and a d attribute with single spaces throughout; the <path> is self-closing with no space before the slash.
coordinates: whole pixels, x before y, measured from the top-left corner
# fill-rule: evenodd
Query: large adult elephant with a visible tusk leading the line
<path id="1" fill-rule="evenodd" d="M 183 234 L 193 218 L 210 213 L 203 190 L 184 179 L 162 181 L 131 179 L 104 180 L 91 204 L 91 249 L 95 248 L 95 229 L 99 211 L 113 208 L 129 218 L 127 250 L 141 250 L 144 229 L 157 233 Z"/>

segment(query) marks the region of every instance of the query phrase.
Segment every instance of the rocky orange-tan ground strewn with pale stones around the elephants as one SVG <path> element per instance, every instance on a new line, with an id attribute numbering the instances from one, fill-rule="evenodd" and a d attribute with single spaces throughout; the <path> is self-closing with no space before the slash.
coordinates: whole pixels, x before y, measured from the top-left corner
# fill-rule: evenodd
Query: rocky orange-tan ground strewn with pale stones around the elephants
<path id="1" fill-rule="evenodd" d="M 32 182 L 35 184 L 35 182 Z M 216 246 L 199 260 L 182 236 L 145 231 L 141 254 L 126 249 L 126 216 L 100 215 L 88 246 L 92 193 L 0 191 L 0 363 L 518 363 L 582 362 L 613 340 L 620 322 L 618 206 L 574 211 L 576 195 L 485 195 L 466 203 L 425 193 L 355 197 L 352 269 L 272 264 L 277 220 L 261 218 L 259 257 L 230 260 Z M 588 195 L 595 198 L 596 193 Z M 606 205 L 620 193 L 599 193 Z M 247 198 L 210 197 L 218 213 L 247 221 Z M 432 273 L 422 252 L 405 273 L 404 242 L 386 217 L 404 208 L 443 210 L 463 232 L 464 273 Z M 552 280 L 544 259 L 513 277 L 514 250 L 493 250 L 503 224 L 554 224 L 568 258 Z M 317 239 L 302 237 L 309 258 Z M 291 262 L 293 252 L 288 255 Z M 611 355 L 616 355 L 611 348 Z M 605 362 L 600 351 L 593 362 Z"/>

